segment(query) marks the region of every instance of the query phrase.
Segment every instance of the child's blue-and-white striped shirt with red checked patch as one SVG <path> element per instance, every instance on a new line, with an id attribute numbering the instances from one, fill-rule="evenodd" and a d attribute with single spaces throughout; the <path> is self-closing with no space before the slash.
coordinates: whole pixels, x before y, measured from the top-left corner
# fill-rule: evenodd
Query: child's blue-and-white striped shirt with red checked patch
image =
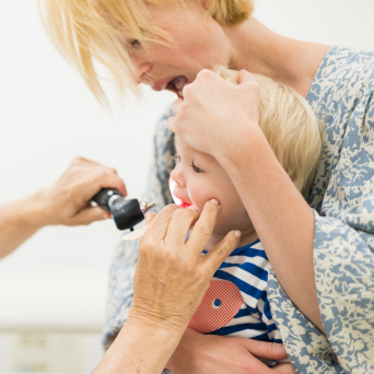
<path id="1" fill-rule="evenodd" d="M 259 239 L 236 248 L 215 271 L 188 327 L 281 343 L 267 294 L 269 268 Z"/>

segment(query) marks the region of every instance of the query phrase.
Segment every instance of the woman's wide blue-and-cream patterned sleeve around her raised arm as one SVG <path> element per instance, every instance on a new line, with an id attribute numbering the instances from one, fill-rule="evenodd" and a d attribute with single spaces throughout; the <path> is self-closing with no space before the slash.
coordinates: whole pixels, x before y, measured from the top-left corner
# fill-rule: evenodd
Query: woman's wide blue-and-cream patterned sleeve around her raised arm
<path id="1" fill-rule="evenodd" d="M 374 372 L 373 233 L 315 213 L 315 277 L 329 343 L 350 373 Z"/>

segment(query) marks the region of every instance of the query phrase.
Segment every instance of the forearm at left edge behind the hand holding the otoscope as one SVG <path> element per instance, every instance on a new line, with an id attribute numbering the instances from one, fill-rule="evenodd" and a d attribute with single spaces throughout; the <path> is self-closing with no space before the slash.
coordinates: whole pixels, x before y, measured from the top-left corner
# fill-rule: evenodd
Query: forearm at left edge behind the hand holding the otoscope
<path id="1" fill-rule="evenodd" d="M 45 225 L 44 192 L 0 204 L 0 258 L 5 257 Z"/>

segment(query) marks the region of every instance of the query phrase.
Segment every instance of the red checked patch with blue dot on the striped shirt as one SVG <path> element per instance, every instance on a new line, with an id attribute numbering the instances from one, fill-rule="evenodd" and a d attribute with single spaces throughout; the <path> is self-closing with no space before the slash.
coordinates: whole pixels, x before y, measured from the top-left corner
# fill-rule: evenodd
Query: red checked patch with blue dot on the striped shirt
<path id="1" fill-rule="evenodd" d="M 221 305 L 214 305 L 220 301 Z M 215 304 L 220 304 L 215 302 Z M 209 289 L 188 327 L 198 332 L 211 332 L 227 325 L 244 303 L 239 289 L 225 280 L 211 280 Z"/>

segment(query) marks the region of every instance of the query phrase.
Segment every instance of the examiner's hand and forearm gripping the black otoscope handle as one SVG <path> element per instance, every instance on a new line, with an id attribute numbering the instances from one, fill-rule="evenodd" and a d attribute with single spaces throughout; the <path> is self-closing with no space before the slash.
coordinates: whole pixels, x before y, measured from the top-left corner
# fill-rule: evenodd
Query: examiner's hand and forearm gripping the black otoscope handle
<path id="1" fill-rule="evenodd" d="M 90 199 L 104 187 L 117 188 L 126 195 L 124 182 L 115 170 L 75 159 L 52 187 L 0 204 L 0 258 L 43 226 L 74 226 L 108 218 L 101 208 L 90 206 Z"/>

